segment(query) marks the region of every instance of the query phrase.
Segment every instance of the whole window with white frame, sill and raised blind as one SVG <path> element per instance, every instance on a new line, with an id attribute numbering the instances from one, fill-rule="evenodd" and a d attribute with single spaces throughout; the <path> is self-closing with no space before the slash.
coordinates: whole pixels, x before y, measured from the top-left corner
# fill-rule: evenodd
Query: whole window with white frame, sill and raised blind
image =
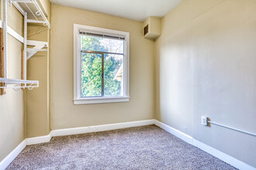
<path id="1" fill-rule="evenodd" d="M 74 104 L 129 101 L 129 32 L 74 24 Z"/>

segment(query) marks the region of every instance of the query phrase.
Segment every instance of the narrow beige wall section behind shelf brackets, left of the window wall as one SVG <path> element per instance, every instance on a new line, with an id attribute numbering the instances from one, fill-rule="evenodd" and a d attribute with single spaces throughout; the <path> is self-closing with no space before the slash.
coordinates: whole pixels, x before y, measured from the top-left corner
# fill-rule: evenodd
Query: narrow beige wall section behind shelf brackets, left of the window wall
<path id="1" fill-rule="evenodd" d="M 42 4 L 41 4 L 42 3 Z M 50 1 L 39 1 L 50 21 Z M 49 42 L 50 29 L 42 24 L 28 25 L 28 39 Z M 49 45 L 50 46 L 50 45 Z M 38 52 L 27 62 L 27 79 L 39 80 L 40 87 L 26 90 L 26 137 L 32 138 L 50 133 L 50 48 Z"/>

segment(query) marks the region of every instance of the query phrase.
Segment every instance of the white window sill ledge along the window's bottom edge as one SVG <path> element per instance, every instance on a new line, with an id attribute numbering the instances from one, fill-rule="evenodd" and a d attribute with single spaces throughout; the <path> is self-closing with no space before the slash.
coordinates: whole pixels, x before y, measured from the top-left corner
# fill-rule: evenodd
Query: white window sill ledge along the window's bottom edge
<path id="1" fill-rule="evenodd" d="M 130 97 L 90 97 L 73 99 L 74 104 L 107 104 L 107 103 L 119 103 L 128 102 Z"/>

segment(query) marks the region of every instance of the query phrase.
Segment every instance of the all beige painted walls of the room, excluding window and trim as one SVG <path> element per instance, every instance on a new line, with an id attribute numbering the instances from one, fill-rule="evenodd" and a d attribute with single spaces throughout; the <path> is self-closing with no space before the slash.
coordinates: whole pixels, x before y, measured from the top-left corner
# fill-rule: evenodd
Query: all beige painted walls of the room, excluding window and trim
<path id="1" fill-rule="evenodd" d="M 0 96 L 0 161 L 25 137 L 49 134 L 50 126 L 74 128 L 157 117 L 256 166 L 254 137 L 200 124 L 206 115 L 256 131 L 254 0 L 184 0 L 161 19 L 161 37 L 155 43 L 142 37 L 142 22 L 60 5 L 50 11 L 49 1 L 40 2 L 49 17 L 52 12 L 51 30 L 29 25 L 29 39 L 52 39 L 51 50 L 29 59 L 28 79 L 40 80 L 40 87 L 26 90 L 26 102 L 22 91 L 9 89 Z M 9 11 L 9 26 L 22 35 L 22 15 L 15 8 Z M 130 102 L 73 104 L 74 23 L 130 32 Z M 9 36 L 9 46 L 9 76 L 20 78 L 22 43 Z"/>

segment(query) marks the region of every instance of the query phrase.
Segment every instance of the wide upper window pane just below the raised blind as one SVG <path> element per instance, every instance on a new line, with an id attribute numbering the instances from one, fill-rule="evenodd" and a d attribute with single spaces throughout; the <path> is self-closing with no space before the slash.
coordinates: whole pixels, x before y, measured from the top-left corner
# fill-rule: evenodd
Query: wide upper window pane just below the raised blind
<path id="1" fill-rule="evenodd" d="M 123 54 L 124 41 L 119 39 L 105 39 L 94 36 L 81 36 L 81 50 L 100 51 Z"/>

